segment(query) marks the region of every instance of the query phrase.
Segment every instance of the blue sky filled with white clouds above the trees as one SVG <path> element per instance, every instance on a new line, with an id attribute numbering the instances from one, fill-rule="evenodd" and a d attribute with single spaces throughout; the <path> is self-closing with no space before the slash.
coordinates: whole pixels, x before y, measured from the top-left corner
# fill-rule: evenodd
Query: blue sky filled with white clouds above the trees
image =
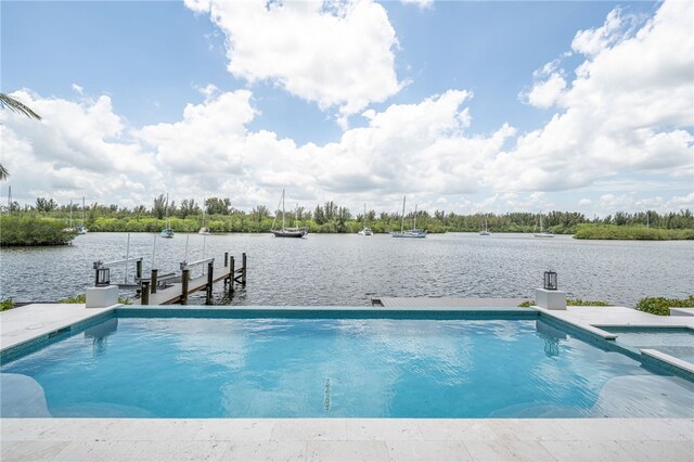
<path id="1" fill-rule="evenodd" d="M 694 209 L 694 3 L 7 1 L 2 201 Z"/>

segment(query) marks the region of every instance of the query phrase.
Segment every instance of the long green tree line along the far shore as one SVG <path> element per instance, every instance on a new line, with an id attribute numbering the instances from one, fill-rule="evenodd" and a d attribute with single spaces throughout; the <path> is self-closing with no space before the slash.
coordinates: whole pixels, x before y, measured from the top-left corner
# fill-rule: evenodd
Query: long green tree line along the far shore
<path id="1" fill-rule="evenodd" d="M 53 198 L 38 197 L 34 205 L 21 206 L 14 202 L 3 206 L 3 213 L 20 216 L 34 216 L 60 220 L 68 224 L 69 216 L 73 221 L 81 222 L 81 205 L 59 204 Z M 257 205 L 245 211 L 232 206 L 228 197 L 208 197 L 204 203 L 188 198 L 177 204 L 167 204 L 164 194 L 154 197 L 150 207 L 139 205 L 133 208 L 115 204 L 105 205 L 92 203 L 83 210 L 85 224 L 90 231 L 159 231 L 168 217 L 171 228 L 179 232 L 194 232 L 203 226 L 203 209 L 205 224 L 213 232 L 267 232 L 272 228 L 280 210 L 270 210 L 265 205 Z M 401 222 L 410 229 L 414 223 L 414 213 L 401 214 L 368 210 L 365 222 L 374 232 L 389 232 L 399 230 Z M 476 232 L 485 227 L 490 232 L 532 232 L 538 230 L 540 215 L 537 213 L 505 213 L 505 214 L 472 214 L 462 215 L 435 210 L 416 211 L 416 227 L 429 232 Z M 364 222 L 362 213 L 354 214 L 349 208 L 333 201 L 318 204 L 313 208 L 297 207 L 285 213 L 287 226 L 305 226 L 310 232 L 351 233 L 357 232 Z M 582 223 L 612 226 L 641 226 L 654 229 L 694 229 L 694 216 L 690 209 L 679 211 L 657 213 L 646 210 L 638 213 L 617 211 L 603 218 L 592 219 L 577 211 L 552 210 L 542 215 L 545 229 L 557 234 L 574 234 L 577 226 Z M 279 226 L 275 223 L 275 226 Z"/>

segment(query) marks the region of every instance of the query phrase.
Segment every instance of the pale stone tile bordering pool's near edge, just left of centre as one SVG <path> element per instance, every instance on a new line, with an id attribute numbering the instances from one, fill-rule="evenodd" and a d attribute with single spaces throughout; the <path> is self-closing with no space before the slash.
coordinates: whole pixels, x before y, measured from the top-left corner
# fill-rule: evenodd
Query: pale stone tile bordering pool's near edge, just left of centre
<path id="1" fill-rule="evenodd" d="M 346 419 L 275 420 L 271 439 L 344 441 L 347 439 Z"/>

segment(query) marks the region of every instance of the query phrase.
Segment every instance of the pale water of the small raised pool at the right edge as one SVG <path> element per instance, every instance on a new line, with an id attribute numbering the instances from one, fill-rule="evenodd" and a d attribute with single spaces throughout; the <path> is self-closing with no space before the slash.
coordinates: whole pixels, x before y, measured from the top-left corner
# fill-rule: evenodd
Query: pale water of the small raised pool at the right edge
<path id="1" fill-rule="evenodd" d="M 617 342 L 639 349 L 656 349 L 694 364 L 694 330 L 681 328 L 605 328 Z"/>

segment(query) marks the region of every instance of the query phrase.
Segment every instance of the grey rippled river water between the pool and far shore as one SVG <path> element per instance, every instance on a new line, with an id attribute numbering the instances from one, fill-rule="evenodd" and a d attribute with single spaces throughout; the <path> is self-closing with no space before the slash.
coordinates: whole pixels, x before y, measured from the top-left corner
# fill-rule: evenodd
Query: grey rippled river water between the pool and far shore
<path id="1" fill-rule="evenodd" d="M 74 244 L 0 249 L 0 298 L 56 300 L 93 285 L 92 262 L 126 257 L 128 235 L 91 233 Z M 188 255 L 187 255 L 188 241 Z M 583 299 L 633 306 L 645 296 L 694 293 L 694 242 L 550 240 L 524 234 L 432 234 L 423 240 L 389 235 L 269 234 L 202 236 L 130 234 L 129 255 L 144 258 L 144 273 L 178 270 L 179 262 L 229 252 L 248 255 L 248 283 L 232 300 L 217 284 L 216 301 L 231 305 L 367 306 L 372 297 L 526 297 L 542 272 L 558 273 L 560 288 Z M 237 262 L 236 265 L 240 265 Z M 125 270 L 112 270 L 121 281 Z M 132 279 L 132 272 L 129 275 Z M 126 294 L 127 295 L 127 294 Z M 201 303 L 202 296 L 191 299 Z"/>

